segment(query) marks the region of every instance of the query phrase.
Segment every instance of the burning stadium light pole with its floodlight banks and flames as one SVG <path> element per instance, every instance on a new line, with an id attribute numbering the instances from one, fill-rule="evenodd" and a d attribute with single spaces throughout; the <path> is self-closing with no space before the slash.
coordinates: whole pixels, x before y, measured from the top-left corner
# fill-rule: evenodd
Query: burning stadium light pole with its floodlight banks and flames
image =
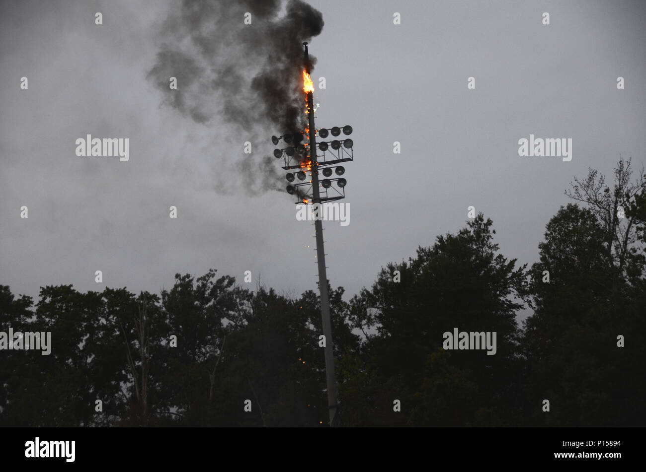
<path id="1" fill-rule="evenodd" d="M 329 143 L 321 141 L 318 144 L 318 150 L 320 150 L 322 154 L 318 154 L 316 143 L 317 133 L 318 136 L 323 139 L 328 137 L 328 133 L 337 137 L 341 133 L 341 128 L 333 126 L 333 128 L 329 128 L 329 130 L 326 128 L 320 128 L 317 130 L 315 127 L 315 108 L 313 98 L 314 85 L 309 75 L 310 63 L 309 54 L 307 53 L 307 43 L 303 43 L 303 45 L 305 46 L 303 91 L 306 93 L 307 102 L 306 129 L 304 132 L 295 132 L 293 135 L 291 133 L 286 133 L 281 137 L 272 136 L 271 141 L 276 145 L 282 138 L 285 143 L 293 144 L 282 150 L 275 149 L 274 156 L 277 159 L 280 159 L 280 157 L 284 158 L 285 166 L 283 166 L 283 168 L 285 170 L 299 170 L 299 172 L 287 173 L 287 181 L 294 182 L 295 177 L 298 177 L 298 180 L 300 181 L 304 181 L 307 177 L 307 172 L 311 174 L 311 180 L 309 182 L 287 185 L 287 193 L 290 195 L 297 195 L 297 204 L 308 203 L 311 201 L 313 208 L 317 206 L 317 210 L 315 210 L 317 213 L 315 214 L 321 215 L 323 202 L 340 200 L 346 196 L 344 190 L 347 183 L 346 179 L 342 177 L 328 179 L 327 177 L 331 177 L 332 175 L 332 168 L 328 166 L 339 164 L 340 162 L 352 161 L 354 159 L 352 151 L 353 142 L 349 138 L 341 140 L 334 139 Z M 346 124 L 342 130 L 344 135 L 349 135 L 352 133 L 352 126 Z M 302 143 L 305 135 L 307 135 L 307 144 Z M 318 168 L 323 168 L 322 173 L 323 176 L 326 177 L 321 181 L 318 179 Z M 336 166 L 334 169 L 335 173 L 339 176 L 343 175 L 345 172 L 343 166 Z M 336 182 L 336 187 L 332 186 L 333 182 Z M 332 324 L 329 315 L 328 276 L 326 275 L 325 250 L 323 247 L 323 225 L 320 217 L 314 219 L 314 225 L 317 241 L 318 288 L 320 290 L 321 298 L 321 318 L 323 324 L 323 335 L 326 339 L 324 353 L 326 380 L 328 385 L 329 425 L 334 428 L 340 426 L 340 419 L 338 415 L 339 405 L 337 397 L 337 380 L 334 369 Z"/>

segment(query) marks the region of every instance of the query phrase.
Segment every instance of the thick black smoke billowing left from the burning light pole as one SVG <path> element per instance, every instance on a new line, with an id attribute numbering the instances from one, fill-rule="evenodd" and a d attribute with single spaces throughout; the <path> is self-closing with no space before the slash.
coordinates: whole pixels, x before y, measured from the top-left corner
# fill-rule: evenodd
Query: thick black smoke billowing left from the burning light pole
<path id="1" fill-rule="evenodd" d="M 258 157 L 254 150 L 253 164 L 247 159 L 243 165 L 264 174 L 258 176 L 263 190 L 284 190 L 284 175 L 278 173 L 282 161 L 273 157 L 273 165 L 267 161 L 269 137 L 304 130 L 302 43 L 323 28 L 322 14 L 304 1 L 283 4 L 283 0 L 184 0 L 172 5 L 148 74 L 163 101 L 182 115 L 205 125 L 222 118 L 238 127 L 241 136 L 256 137 L 254 148 L 265 153 Z M 251 25 L 245 24 L 247 14 Z M 313 68 L 312 56 L 310 61 Z M 170 90 L 170 77 L 177 77 L 177 90 Z"/>

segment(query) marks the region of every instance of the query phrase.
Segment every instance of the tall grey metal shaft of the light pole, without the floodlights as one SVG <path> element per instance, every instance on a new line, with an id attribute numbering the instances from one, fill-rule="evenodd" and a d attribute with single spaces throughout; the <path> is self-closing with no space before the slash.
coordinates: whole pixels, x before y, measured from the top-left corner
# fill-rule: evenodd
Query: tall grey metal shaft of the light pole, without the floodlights
<path id="1" fill-rule="evenodd" d="M 307 43 L 305 46 L 305 68 L 307 75 L 309 70 L 309 55 L 307 54 Z M 318 191 L 318 162 L 317 162 L 317 143 L 316 127 L 314 126 L 314 97 L 313 92 L 307 92 L 307 118 L 309 119 L 309 160 L 312 169 L 312 204 L 320 208 L 321 199 Z M 314 221 L 314 230 L 317 239 L 317 262 L 318 262 L 318 288 L 321 292 L 321 318 L 323 321 L 323 335 L 326 339 L 325 345 L 325 371 L 328 382 L 328 406 L 329 406 L 329 426 L 334 428 L 337 424 L 337 378 L 334 372 L 334 351 L 332 342 L 332 323 L 329 319 L 329 295 L 328 295 L 328 275 L 325 270 L 325 250 L 323 248 L 323 224 L 320 218 Z"/>

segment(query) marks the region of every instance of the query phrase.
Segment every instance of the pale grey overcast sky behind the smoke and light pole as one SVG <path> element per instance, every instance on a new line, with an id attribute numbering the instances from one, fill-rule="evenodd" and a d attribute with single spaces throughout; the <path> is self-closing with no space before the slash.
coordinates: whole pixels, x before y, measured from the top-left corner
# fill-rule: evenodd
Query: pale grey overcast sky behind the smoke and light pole
<path id="1" fill-rule="evenodd" d="M 458 231 L 470 205 L 492 218 L 506 257 L 534 262 L 572 177 L 589 166 L 611 177 L 620 154 L 646 162 L 642 1 L 309 3 L 325 21 L 310 44 L 315 84 L 327 83 L 315 92 L 317 125 L 355 130 L 350 224 L 324 223 L 328 278 L 348 295 Z M 231 163 L 249 138 L 160 106 L 146 73 L 167 6 L 1 4 L 0 283 L 14 293 L 159 291 L 176 272 L 209 268 L 243 286 L 251 270 L 279 291 L 316 288 L 313 226 L 296 221 L 291 196 L 218 191 L 237 178 Z M 128 137 L 130 160 L 77 157 L 87 133 Z M 530 133 L 572 138 L 572 161 L 519 157 Z"/>

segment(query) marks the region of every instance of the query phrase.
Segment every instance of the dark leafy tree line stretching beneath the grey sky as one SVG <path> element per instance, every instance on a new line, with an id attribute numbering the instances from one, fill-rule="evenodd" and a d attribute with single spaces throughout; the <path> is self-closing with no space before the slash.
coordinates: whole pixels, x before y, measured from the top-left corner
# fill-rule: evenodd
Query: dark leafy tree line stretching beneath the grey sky
<path id="1" fill-rule="evenodd" d="M 644 426 L 645 179 L 574 179 L 532 266 L 479 213 L 348 301 L 330 288 L 342 426 Z M 36 304 L 0 285 L 0 331 L 53 344 L 0 351 L 0 426 L 327 426 L 317 293 L 216 270 Z M 454 328 L 497 333 L 495 355 L 444 349 Z"/>

